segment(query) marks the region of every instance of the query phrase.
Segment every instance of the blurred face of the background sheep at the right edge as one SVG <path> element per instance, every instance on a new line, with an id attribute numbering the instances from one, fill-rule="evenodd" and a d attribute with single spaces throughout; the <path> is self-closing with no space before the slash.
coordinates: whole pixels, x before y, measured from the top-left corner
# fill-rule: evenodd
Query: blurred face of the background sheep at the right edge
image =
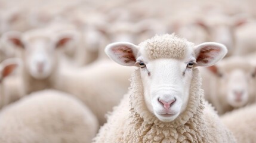
<path id="1" fill-rule="evenodd" d="M 255 67 L 248 61 L 234 57 L 209 69 L 217 76 L 218 95 L 227 104 L 239 108 L 251 102 L 255 95 Z"/>

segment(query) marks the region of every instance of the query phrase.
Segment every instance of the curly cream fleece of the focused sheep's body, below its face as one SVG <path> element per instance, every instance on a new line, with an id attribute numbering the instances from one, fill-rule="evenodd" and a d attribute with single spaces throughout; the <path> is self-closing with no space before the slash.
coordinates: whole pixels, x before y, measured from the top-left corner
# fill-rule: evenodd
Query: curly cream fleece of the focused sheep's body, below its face
<path id="1" fill-rule="evenodd" d="M 205 107 L 205 108 L 204 108 Z M 109 115 L 94 142 L 236 142 L 209 104 L 204 105 L 201 78 L 193 69 L 186 110 L 172 122 L 161 122 L 146 107 L 140 71 L 129 94 Z"/>

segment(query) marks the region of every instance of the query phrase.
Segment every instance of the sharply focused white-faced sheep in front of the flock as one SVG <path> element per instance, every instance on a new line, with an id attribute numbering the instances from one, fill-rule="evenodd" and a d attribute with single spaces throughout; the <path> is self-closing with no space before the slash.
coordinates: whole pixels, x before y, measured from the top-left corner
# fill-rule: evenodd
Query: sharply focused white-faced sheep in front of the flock
<path id="1" fill-rule="evenodd" d="M 203 100 L 201 77 L 193 68 L 221 60 L 227 53 L 224 45 L 195 46 L 166 34 L 139 45 L 111 43 L 106 53 L 116 63 L 138 69 L 94 142 L 236 142 Z"/>

